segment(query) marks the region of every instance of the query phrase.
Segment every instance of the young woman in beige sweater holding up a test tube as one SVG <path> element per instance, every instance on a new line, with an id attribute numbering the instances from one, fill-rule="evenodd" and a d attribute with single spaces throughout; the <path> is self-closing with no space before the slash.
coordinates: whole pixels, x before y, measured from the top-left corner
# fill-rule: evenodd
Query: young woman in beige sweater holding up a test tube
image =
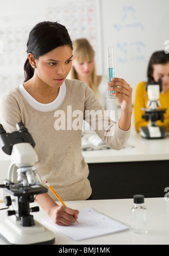
<path id="1" fill-rule="evenodd" d="M 7 132 L 16 130 L 23 122 L 35 141 L 39 162 L 37 170 L 42 185 L 48 181 L 65 200 L 84 200 L 91 196 L 88 166 L 81 152 L 83 118 L 91 121 L 90 111 L 103 113 L 94 92 L 83 82 L 68 80 L 72 66 L 72 41 L 66 28 L 55 22 L 38 23 L 30 31 L 25 62 L 25 81 L 1 99 L 0 116 Z M 130 135 L 132 89 L 123 79 L 115 78 L 122 109 L 117 123 L 108 116 L 95 115 L 95 131 L 114 149 L 121 149 Z M 118 86 L 118 87 L 116 87 Z M 114 90 L 114 88 L 113 88 Z M 107 119 L 108 125 L 99 129 Z M 50 191 L 35 201 L 54 223 L 70 225 L 78 218 L 78 210 L 59 206 Z"/>

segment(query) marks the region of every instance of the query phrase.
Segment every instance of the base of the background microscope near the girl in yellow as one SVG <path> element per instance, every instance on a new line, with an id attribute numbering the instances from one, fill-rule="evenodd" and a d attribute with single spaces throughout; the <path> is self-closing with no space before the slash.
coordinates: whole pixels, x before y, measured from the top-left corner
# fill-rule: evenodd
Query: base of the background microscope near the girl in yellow
<path id="1" fill-rule="evenodd" d="M 144 138 L 164 138 L 167 135 L 166 127 L 142 126 L 140 134 Z"/>

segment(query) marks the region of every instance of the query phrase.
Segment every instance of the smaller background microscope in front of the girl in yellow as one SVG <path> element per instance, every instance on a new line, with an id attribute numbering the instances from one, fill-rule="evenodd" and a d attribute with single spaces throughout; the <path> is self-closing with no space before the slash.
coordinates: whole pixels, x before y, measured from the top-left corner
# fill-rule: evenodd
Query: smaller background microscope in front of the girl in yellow
<path id="1" fill-rule="evenodd" d="M 166 109 L 159 109 L 159 93 L 162 90 L 161 79 L 158 82 L 148 81 L 146 84 L 146 91 L 148 93 L 148 109 L 142 109 L 144 115 L 142 116 L 146 121 L 149 121 L 147 126 L 140 127 L 140 134 L 144 138 L 164 138 L 167 135 L 166 127 L 157 125 L 157 120 L 164 122 L 163 114 Z"/>

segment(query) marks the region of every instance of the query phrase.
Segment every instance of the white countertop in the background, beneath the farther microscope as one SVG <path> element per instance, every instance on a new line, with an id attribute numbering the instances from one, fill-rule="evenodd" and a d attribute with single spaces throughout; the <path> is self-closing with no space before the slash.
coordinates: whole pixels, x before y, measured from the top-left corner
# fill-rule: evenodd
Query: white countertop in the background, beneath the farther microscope
<path id="1" fill-rule="evenodd" d="M 87 163 L 169 160 L 169 136 L 163 139 L 146 139 L 140 134 L 131 134 L 121 150 L 82 151 L 82 154 Z"/>

